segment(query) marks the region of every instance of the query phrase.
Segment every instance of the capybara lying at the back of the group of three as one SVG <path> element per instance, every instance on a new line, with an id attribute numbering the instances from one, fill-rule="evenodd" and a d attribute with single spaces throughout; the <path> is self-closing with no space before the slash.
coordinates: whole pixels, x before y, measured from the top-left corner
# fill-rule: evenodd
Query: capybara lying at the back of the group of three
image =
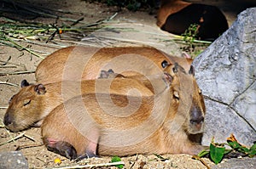
<path id="1" fill-rule="evenodd" d="M 177 62 L 184 69 L 189 69 L 193 61 L 149 47 L 72 46 L 61 48 L 42 60 L 35 76 L 41 83 L 96 79 L 101 70 L 109 69 L 124 76 L 150 76 L 164 69 L 161 65 L 163 60 L 170 64 Z"/>

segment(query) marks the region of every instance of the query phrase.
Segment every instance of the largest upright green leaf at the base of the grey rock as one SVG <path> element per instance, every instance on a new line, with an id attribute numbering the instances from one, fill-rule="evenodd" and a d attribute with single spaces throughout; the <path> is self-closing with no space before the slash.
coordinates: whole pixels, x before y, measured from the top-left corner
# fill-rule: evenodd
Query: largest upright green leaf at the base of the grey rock
<path id="1" fill-rule="evenodd" d="M 222 161 L 222 159 L 224 157 L 224 151 L 225 151 L 224 146 L 219 147 L 219 146 L 215 146 L 213 144 L 210 145 L 210 156 L 211 156 L 212 161 L 215 164 L 218 164 L 220 161 Z"/>

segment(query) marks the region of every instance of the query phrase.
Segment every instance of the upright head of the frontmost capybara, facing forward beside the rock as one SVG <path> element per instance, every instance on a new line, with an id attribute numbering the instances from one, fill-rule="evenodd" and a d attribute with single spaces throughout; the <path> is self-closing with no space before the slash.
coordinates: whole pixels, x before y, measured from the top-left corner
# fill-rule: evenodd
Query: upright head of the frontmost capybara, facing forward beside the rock
<path id="1" fill-rule="evenodd" d="M 181 126 L 188 134 L 203 132 L 206 107 L 201 89 L 195 81 L 194 67 L 191 65 L 189 72 L 186 72 L 183 67 L 175 64 L 174 67 L 167 66 L 165 71 L 170 75 L 174 72 L 174 76 L 178 76 L 178 81 L 173 81 L 171 87 L 173 99 L 178 102 L 174 118 L 182 116 Z"/>

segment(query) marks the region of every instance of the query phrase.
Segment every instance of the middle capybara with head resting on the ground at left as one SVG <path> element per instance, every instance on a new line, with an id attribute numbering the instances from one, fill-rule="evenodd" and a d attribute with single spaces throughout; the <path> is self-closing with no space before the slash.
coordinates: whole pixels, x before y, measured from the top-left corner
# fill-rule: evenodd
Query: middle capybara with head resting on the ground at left
<path id="1" fill-rule="evenodd" d="M 23 81 L 19 93 L 9 101 L 3 122 L 13 132 L 40 126 L 44 117 L 57 105 L 82 93 L 119 93 L 129 96 L 154 94 L 142 82 L 131 78 L 63 81 L 44 85 L 30 85 Z"/>

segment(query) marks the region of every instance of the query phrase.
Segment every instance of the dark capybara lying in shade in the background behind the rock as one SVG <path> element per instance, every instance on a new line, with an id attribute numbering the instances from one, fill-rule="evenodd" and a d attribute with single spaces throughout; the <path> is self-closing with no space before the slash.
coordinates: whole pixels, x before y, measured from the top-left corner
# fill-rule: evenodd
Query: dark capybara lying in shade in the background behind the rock
<path id="1" fill-rule="evenodd" d="M 197 39 L 214 41 L 229 29 L 228 22 L 219 8 L 188 3 L 181 0 L 162 0 L 157 23 L 163 31 L 182 35 L 191 25 L 197 25 Z"/>

